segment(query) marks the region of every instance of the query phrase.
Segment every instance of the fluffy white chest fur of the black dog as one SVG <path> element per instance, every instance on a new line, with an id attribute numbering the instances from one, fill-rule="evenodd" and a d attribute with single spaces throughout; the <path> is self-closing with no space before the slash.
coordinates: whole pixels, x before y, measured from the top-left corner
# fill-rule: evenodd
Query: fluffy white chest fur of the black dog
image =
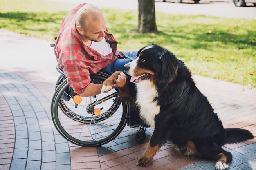
<path id="1" fill-rule="evenodd" d="M 154 101 L 157 96 L 155 86 L 146 80 L 137 84 L 137 104 L 140 106 L 141 118 L 145 118 L 148 125 L 155 127 L 155 115 L 159 114 L 160 106 Z"/>

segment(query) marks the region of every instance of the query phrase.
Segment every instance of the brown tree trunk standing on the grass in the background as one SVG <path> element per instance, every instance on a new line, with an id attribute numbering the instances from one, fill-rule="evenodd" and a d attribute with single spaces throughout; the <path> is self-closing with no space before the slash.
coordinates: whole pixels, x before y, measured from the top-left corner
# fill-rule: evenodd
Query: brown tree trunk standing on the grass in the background
<path id="1" fill-rule="evenodd" d="M 155 0 L 138 0 L 139 4 L 139 33 L 157 32 L 155 23 Z"/>

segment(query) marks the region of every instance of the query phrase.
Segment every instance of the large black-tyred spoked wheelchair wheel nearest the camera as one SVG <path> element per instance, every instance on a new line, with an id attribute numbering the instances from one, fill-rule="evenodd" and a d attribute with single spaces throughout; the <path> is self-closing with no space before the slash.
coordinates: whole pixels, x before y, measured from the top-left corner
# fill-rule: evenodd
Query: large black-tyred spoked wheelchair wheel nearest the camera
<path id="1" fill-rule="evenodd" d="M 91 75 L 91 82 L 101 84 L 108 75 Z M 117 99 L 119 88 L 108 93 L 91 97 L 81 97 L 81 103 L 75 104 L 73 95 L 68 101 L 62 99 L 70 86 L 64 79 L 56 88 L 51 104 L 54 126 L 68 141 L 79 146 L 100 146 L 113 140 L 126 125 L 129 105 Z"/>

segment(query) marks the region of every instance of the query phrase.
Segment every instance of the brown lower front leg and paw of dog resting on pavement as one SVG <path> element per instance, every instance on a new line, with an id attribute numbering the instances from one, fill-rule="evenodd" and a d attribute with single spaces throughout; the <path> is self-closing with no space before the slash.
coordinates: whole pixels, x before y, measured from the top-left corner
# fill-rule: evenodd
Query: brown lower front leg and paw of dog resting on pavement
<path id="1" fill-rule="evenodd" d="M 157 151 L 159 151 L 161 146 L 157 145 L 155 147 L 150 146 L 150 141 L 148 142 L 148 146 L 146 151 L 141 157 L 138 158 L 136 165 L 137 166 L 148 166 L 153 161 L 153 157 L 156 155 Z"/>

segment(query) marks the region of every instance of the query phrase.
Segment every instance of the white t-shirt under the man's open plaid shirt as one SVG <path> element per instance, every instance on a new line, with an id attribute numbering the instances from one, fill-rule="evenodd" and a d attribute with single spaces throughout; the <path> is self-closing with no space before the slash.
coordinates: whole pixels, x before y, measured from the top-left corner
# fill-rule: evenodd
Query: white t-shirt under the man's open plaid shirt
<path id="1" fill-rule="evenodd" d="M 98 51 L 98 53 L 100 53 L 101 55 L 108 55 L 109 53 L 112 53 L 110 44 L 106 41 L 104 37 L 100 42 L 92 41 L 90 48 Z"/>

